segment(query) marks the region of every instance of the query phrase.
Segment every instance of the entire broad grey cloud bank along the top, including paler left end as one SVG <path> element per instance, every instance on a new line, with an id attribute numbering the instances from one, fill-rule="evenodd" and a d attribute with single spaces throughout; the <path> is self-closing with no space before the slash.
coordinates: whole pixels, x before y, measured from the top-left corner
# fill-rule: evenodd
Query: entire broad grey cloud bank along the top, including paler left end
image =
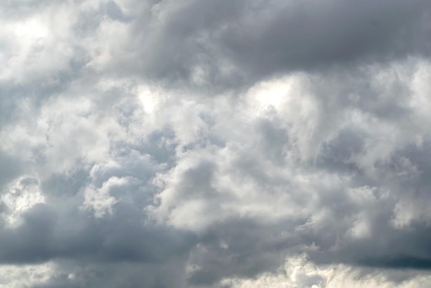
<path id="1" fill-rule="evenodd" d="M 429 10 L 423 0 L 160 2 L 136 16 L 130 53 L 116 55 L 113 69 L 219 90 L 286 72 L 428 57 Z"/>

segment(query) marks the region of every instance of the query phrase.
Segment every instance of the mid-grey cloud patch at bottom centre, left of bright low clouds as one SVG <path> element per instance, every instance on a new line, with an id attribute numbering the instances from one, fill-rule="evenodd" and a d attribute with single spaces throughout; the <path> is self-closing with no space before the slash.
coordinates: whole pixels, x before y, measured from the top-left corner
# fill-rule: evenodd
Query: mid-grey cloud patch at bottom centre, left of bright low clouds
<path id="1" fill-rule="evenodd" d="M 191 285 L 216 284 L 225 277 L 253 278 L 282 265 L 289 247 L 297 239 L 286 227 L 300 225 L 304 220 L 271 225 L 251 219 L 229 219 L 213 225 L 200 246 L 192 251 L 191 260 L 200 267 L 191 275 Z"/>

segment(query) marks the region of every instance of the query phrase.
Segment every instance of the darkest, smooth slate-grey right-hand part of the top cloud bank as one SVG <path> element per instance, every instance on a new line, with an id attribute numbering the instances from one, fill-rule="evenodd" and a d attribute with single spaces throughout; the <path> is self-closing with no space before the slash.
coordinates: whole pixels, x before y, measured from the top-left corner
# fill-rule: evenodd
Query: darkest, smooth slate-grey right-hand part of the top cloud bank
<path id="1" fill-rule="evenodd" d="M 428 8 L 425 1 L 288 3 L 263 21 L 247 19 L 222 39 L 237 63 L 262 76 L 393 60 L 427 53 L 426 42 L 414 38 L 426 31 Z"/>

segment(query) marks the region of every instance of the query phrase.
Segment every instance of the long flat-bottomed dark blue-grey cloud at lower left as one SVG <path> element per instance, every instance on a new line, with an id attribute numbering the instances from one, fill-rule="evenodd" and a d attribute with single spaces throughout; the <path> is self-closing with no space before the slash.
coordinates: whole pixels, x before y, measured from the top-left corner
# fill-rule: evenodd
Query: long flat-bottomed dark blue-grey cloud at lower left
<path id="1" fill-rule="evenodd" d="M 55 207 L 35 205 L 25 212 L 19 228 L 3 228 L 0 260 L 11 264 L 56 258 L 165 263 L 174 255 L 187 254 L 196 242 L 193 234 L 143 224 L 136 207 L 118 206 L 115 216 L 97 221 L 78 211 L 59 214 Z"/>

